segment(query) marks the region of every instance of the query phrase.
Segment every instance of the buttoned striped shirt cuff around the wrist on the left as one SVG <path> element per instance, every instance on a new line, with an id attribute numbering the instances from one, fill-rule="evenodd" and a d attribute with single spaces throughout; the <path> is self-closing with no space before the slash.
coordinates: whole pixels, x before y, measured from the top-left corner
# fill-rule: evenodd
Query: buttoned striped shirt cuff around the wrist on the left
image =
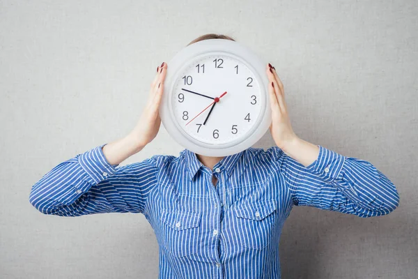
<path id="1" fill-rule="evenodd" d="M 111 165 L 104 153 L 102 147 L 106 144 L 97 146 L 89 151 L 82 153 L 79 158 L 79 164 L 82 166 L 84 171 L 88 174 L 89 183 L 98 184 L 103 181 L 107 176 L 116 172 L 118 165 Z"/>

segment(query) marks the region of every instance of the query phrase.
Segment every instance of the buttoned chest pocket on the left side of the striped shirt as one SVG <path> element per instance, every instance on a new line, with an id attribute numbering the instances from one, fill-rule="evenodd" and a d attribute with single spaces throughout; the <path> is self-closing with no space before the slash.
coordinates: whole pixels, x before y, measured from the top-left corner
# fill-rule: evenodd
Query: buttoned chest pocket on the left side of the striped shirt
<path id="1" fill-rule="evenodd" d="M 163 246 L 176 257 L 198 252 L 201 213 L 183 209 L 163 209 Z"/>

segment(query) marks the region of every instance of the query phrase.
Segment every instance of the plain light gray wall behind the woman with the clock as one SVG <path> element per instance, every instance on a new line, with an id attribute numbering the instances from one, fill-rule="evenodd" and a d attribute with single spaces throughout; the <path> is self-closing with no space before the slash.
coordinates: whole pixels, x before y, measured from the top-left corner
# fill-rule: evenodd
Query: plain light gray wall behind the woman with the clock
<path id="1" fill-rule="evenodd" d="M 45 216 L 29 193 L 128 133 L 155 68 L 210 32 L 276 67 L 297 135 L 368 160 L 401 196 L 379 218 L 295 208 L 283 278 L 418 278 L 417 14 L 415 0 L 0 0 L 0 278 L 157 278 L 144 216 Z M 182 149 L 162 128 L 121 165 Z"/>

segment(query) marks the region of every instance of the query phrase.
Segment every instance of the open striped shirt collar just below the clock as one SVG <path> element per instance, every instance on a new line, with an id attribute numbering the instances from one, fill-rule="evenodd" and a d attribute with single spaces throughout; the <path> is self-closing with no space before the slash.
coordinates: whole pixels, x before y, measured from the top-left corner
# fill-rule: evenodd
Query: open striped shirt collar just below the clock
<path id="1" fill-rule="evenodd" d="M 230 176 L 244 152 L 245 151 L 241 151 L 233 155 L 225 156 L 222 160 L 216 163 L 215 166 L 213 166 L 213 169 L 219 167 L 221 172 L 226 171 L 228 176 Z M 203 167 L 203 164 L 197 158 L 196 153 L 189 151 L 189 149 L 184 149 L 182 153 L 185 157 L 187 171 L 189 172 L 189 179 L 192 180 L 199 169 Z"/>

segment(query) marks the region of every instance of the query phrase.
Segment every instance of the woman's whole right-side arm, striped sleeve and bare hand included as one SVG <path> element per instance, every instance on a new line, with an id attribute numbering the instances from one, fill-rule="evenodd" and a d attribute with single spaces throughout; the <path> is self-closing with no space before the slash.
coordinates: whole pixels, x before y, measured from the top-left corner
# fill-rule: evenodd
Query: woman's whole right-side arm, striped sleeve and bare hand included
<path id="1" fill-rule="evenodd" d="M 291 189 L 293 203 L 361 217 L 396 209 L 399 195 L 394 184 L 371 163 L 342 156 L 295 135 L 284 86 L 270 64 L 266 72 L 272 108 L 270 132 L 279 147 L 281 173 Z"/>

